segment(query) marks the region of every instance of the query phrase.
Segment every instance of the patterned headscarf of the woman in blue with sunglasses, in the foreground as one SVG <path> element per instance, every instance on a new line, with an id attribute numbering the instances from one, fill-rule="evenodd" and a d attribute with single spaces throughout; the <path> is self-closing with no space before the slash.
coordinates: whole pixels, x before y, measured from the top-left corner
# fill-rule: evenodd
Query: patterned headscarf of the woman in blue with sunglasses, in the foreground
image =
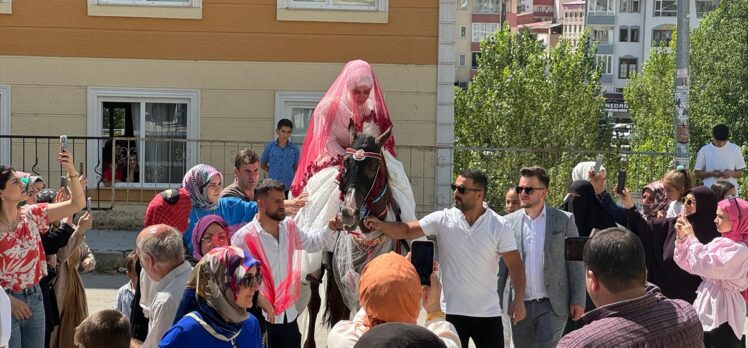
<path id="1" fill-rule="evenodd" d="M 195 266 L 193 272 L 197 272 L 198 304 L 204 301 L 220 315 L 222 320 L 218 320 L 216 325 L 228 322 L 239 324 L 241 328 L 241 324 L 247 320 L 247 310 L 239 307 L 236 299 L 241 281 L 254 266 L 257 266 L 259 272 L 260 262 L 255 260 L 249 251 L 234 246 L 211 250 Z M 210 322 L 205 318 L 205 313 L 202 314 L 203 319 Z M 213 323 L 211 326 L 214 326 Z"/>

